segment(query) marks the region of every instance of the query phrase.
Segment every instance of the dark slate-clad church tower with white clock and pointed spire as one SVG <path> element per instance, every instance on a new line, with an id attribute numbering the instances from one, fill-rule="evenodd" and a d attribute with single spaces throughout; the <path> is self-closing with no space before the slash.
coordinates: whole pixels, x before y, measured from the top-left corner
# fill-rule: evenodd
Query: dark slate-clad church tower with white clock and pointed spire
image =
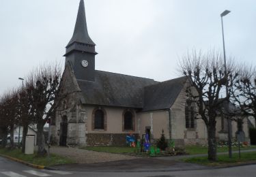
<path id="1" fill-rule="evenodd" d="M 77 80 L 94 81 L 95 55 L 97 54 L 95 46 L 87 31 L 85 3 L 81 0 L 74 33 L 66 46 L 64 55 L 66 64 L 72 65 Z"/>

